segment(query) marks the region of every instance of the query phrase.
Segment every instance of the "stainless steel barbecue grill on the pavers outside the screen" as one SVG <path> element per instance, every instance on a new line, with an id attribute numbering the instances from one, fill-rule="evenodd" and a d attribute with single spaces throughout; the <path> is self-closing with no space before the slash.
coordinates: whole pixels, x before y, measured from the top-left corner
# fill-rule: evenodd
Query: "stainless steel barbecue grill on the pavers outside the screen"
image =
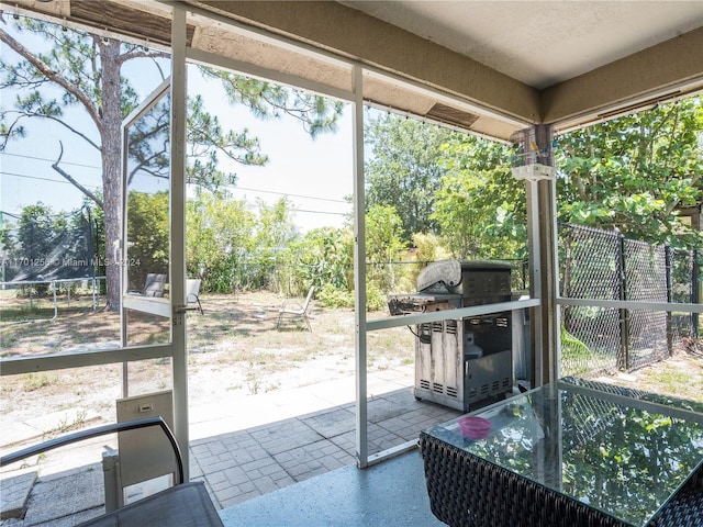
<path id="1" fill-rule="evenodd" d="M 442 260 L 417 276 L 416 294 L 392 294 L 392 315 L 453 310 L 511 300 L 510 264 Z M 511 312 L 415 326 L 419 400 L 469 411 L 469 405 L 512 390 Z"/>

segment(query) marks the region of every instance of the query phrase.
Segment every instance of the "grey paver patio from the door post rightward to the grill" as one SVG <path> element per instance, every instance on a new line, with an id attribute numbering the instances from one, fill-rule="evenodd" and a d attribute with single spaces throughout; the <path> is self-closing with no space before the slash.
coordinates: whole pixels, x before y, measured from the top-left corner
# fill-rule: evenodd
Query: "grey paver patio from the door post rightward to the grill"
<path id="1" fill-rule="evenodd" d="M 459 412 L 415 401 L 413 367 L 369 378 L 369 452 L 417 438 L 420 430 Z M 203 480 L 220 508 L 356 462 L 354 379 L 256 397 L 250 407 L 193 424 L 191 479 Z M 343 403 L 343 401 L 346 401 Z M 305 408 L 312 412 L 305 413 Z M 198 411 L 191 411 L 191 422 Z M 280 418 L 270 422 L 272 415 Z M 266 424 L 258 424 L 266 416 Z M 246 427 L 237 427 L 244 423 Z M 232 429 L 207 434 L 207 429 Z"/>

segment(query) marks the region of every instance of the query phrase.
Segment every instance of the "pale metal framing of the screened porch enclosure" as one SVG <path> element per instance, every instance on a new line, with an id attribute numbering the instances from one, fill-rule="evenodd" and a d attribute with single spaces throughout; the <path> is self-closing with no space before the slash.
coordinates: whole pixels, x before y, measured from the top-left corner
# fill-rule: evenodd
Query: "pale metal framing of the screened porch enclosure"
<path id="1" fill-rule="evenodd" d="M 366 226 L 364 215 L 365 175 L 364 175 L 364 105 L 373 103 L 366 87 L 378 79 L 400 87 L 406 92 L 421 93 L 437 101 L 451 102 L 467 111 L 480 115 L 510 122 L 512 126 L 532 126 L 534 123 L 522 121 L 500 109 L 487 108 L 465 100 L 450 92 L 428 86 L 420 86 L 411 79 L 402 78 L 389 71 L 380 70 L 370 64 L 336 55 L 330 51 L 310 44 L 268 33 L 261 29 L 234 21 L 203 9 L 181 3 L 164 2 L 171 9 L 171 254 L 170 284 L 172 312 L 172 340 L 169 345 L 157 345 L 138 349 L 123 348 L 109 351 L 93 351 L 76 355 L 55 355 L 36 358 L 3 359 L 2 375 L 14 375 L 33 371 L 48 371 L 64 368 L 78 368 L 105 363 L 120 363 L 149 358 L 172 357 L 176 437 L 181 445 L 188 445 L 188 350 L 186 347 L 186 260 L 185 260 L 185 200 L 186 200 L 186 67 L 188 63 L 207 64 L 230 69 L 243 75 L 320 93 L 346 101 L 354 111 L 353 153 L 354 164 L 354 281 L 355 281 L 355 369 L 356 369 L 356 458 L 359 468 L 366 468 L 403 451 L 415 448 L 415 441 L 400 445 L 379 453 L 368 451 L 368 408 L 367 408 L 367 336 L 371 332 L 383 330 L 413 324 L 424 324 L 449 318 L 469 317 L 509 310 L 531 310 L 533 382 L 539 385 L 559 378 L 559 321 L 560 305 L 594 305 L 614 309 L 646 309 L 654 311 L 677 311 L 703 313 L 701 304 L 670 304 L 650 302 L 593 301 L 566 299 L 559 293 L 558 255 L 556 250 L 556 183 L 551 181 L 527 181 L 527 231 L 531 269 L 531 299 L 501 304 L 487 304 L 446 312 L 406 315 L 367 319 L 366 314 Z M 11 9 L 8 9 L 12 11 Z M 226 27 L 235 34 L 258 38 L 266 46 L 279 46 L 287 52 L 313 57 L 321 64 L 341 70 L 348 76 L 339 85 L 327 85 L 309 78 L 281 71 L 280 69 L 250 64 L 236 58 L 196 49 L 188 45 L 189 16 L 207 18 Z M 55 22 L 60 23 L 59 20 Z M 175 301 L 178 299 L 178 302 Z M 538 330 L 534 330 L 537 328 Z M 186 455 L 185 466 L 188 467 Z M 186 475 L 188 478 L 188 475 Z"/>

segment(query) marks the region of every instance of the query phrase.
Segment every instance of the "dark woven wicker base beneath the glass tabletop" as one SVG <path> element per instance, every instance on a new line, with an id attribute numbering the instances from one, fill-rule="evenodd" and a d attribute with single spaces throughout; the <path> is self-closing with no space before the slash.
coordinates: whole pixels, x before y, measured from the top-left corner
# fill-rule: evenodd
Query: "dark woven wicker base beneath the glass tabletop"
<path id="1" fill-rule="evenodd" d="M 453 527 L 631 527 L 424 433 L 420 448 L 432 512 Z M 701 471 L 649 527 L 703 527 Z"/>

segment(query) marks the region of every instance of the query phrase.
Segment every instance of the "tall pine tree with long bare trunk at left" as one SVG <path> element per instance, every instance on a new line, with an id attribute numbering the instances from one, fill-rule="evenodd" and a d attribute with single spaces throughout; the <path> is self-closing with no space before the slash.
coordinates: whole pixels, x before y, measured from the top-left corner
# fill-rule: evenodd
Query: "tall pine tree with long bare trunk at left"
<path id="1" fill-rule="evenodd" d="M 122 152 L 122 120 L 138 106 L 145 93 L 155 88 L 137 85 L 143 81 L 142 77 L 149 75 L 163 80 L 169 54 L 31 18 L 4 20 L 5 15 L 2 16 L 0 40 L 9 53 L 0 60 L 3 87 L 0 149 L 12 139 L 26 136 L 24 123 L 27 120 L 41 119 L 45 123 L 62 124 L 60 131 L 68 131 L 76 144 L 97 153 L 101 164 L 98 190 L 79 182 L 70 168 L 62 165 L 64 144 L 58 139 L 56 146 L 60 154 L 52 168 L 76 187 L 91 206 L 102 211 L 102 246 L 107 249 L 101 256 L 112 256 L 107 253 L 122 237 L 123 155 L 129 161 L 127 186 L 136 175 L 153 178 L 152 187 L 154 179 L 165 179 L 169 175 L 168 98 L 155 103 L 144 120 L 140 117 L 142 122 L 126 137 L 129 153 Z M 31 41 L 31 45 L 26 45 L 26 41 Z M 134 63 L 148 71 L 143 69 L 138 76 L 129 77 L 124 72 L 125 65 Z M 228 71 L 211 68 L 199 71 L 204 79 L 214 80 L 224 88 L 230 103 L 244 104 L 257 116 L 291 115 L 313 137 L 336 130 L 342 102 Z M 155 80 L 156 85 L 158 82 Z M 140 88 L 144 93 L 140 94 Z M 78 119 L 81 124 L 77 124 L 71 108 L 79 109 L 81 116 L 87 117 Z M 236 180 L 235 173 L 222 170 L 221 158 L 245 165 L 264 165 L 268 160 L 256 137 L 252 137 L 246 128 L 239 132 L 223 130 L 217 116 L 208 113 L 198 97 L 188 101 L 187 136 L 188 180 L 209 191 L 216 192 L 223 184 Z M 30 254 L 26 246 L 20 248 L 24 251 L 20 255 L 22 258 L 49 257 L 49 254 Z M 126 249 L 129 247 L 125 254 Z M 122 293 L 120 266 L 105 266 L 104 272 L 108 274 L 108 307 L 118 310 Z"/>

